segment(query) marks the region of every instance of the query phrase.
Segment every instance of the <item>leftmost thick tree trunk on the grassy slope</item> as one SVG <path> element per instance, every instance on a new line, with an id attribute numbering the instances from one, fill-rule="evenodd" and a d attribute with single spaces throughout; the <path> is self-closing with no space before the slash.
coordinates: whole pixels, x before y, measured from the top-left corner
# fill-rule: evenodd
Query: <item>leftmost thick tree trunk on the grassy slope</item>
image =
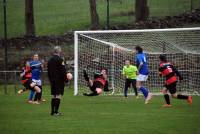
<path id="1" fill-rule="evenodd" d="M 26 36 L 35 36 L 33 0 L 25 0 L 25 27 Z"/>

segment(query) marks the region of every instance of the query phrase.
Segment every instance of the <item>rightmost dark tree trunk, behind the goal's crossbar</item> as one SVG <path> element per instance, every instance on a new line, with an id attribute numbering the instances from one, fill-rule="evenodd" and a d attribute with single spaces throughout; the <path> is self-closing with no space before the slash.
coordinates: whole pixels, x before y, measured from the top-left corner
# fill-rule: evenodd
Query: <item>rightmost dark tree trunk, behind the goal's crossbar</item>
<path id="1" fill-rule="evenodd" d="M 149 7 L 147 0 L 136 0 L 135 18 L 136 21 L 145 21 L 149 17 Z"/>

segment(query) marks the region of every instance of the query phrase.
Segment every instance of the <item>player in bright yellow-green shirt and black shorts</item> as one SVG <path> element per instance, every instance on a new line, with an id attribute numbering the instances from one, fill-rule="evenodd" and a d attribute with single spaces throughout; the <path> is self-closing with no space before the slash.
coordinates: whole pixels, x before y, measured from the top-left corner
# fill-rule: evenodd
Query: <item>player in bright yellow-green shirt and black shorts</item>
<path id="1" fill-rule="evenodd" d="M 124 96 L 128 97 L 128 88 L 131 86 L 135 91 L 135 96 L 138 98 L 138 92 L 136 87 L 136 77 L 137 77 L 137 67 L 130 64 L 130 60 L 125 61 L 125 66 L 123 67 L 122 74 L 126 77 L 125 80 L 125 88 L 124 88 Z"/>

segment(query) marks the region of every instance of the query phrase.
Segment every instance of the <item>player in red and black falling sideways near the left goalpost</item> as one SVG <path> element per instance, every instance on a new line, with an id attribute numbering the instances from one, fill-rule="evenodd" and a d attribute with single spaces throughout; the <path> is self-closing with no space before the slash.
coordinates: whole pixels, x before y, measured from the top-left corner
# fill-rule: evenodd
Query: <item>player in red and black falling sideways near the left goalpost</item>
<path id="1" fill-rule="evenodd" d="M 86 72 L 83 71 L 85 81 L 88 84 L 88 87 L 91 93 L 84 93 L 85 96 L 98 96 L 104 90 L 105 92 L 110 91 L 108 89 L 108 81 L 107 81 L 107 71 L 105 69 L 101 70 L 101 73 L 95 73 L 94 79 L 91 80 Z"/>

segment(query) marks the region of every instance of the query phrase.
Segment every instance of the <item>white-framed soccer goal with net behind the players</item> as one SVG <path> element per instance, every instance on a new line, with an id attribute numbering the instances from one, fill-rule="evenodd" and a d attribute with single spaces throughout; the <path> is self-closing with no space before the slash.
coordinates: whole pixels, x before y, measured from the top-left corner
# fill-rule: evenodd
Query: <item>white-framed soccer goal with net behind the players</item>
<path id="1" fill-rule="evenodd" d="M 108 70 L 109 86 L 114 94 L 122 94 L 125 59 L 135 64 L 136 45 L 143 47 L 148 57 L 149 79 L 145 83 L 153 93 L 159 93 L 163 79 L 158 77 L 159 55 L 165 53 L 183 75 L 178 91 L 200 93 L 200 27 L 148 30 L 75 31 L 74 33 L 74 95 L 88 91 L 83 78 L 86 69 L 93 74 L 101 68 Z M 130 90 L 130 92 L 132 92 Z"/>

